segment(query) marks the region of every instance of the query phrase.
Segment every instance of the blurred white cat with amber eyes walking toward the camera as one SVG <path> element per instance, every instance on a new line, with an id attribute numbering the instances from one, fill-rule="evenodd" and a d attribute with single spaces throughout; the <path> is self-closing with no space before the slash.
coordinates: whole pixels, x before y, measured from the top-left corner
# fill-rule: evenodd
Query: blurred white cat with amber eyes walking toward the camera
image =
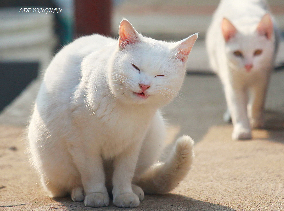
<path id="1" fill-rule="evenodd" d="M 263 126 L 263 108 L 277 50 L 275 24 L 264 0 L 221 0 L 207 31 L 211 67 L 221 79 L 233 139 Z"/>

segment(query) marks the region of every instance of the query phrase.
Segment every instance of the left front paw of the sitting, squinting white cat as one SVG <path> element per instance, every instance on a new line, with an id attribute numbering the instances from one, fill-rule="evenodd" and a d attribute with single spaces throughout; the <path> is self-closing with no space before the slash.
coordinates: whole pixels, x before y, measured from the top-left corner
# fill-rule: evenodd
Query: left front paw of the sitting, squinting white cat
<path id="1" fill-rule="evenodd" d="M 107 207 L 109 204 L 108 193 L 90 193 L 85 196 L 86 207 Z"/>

